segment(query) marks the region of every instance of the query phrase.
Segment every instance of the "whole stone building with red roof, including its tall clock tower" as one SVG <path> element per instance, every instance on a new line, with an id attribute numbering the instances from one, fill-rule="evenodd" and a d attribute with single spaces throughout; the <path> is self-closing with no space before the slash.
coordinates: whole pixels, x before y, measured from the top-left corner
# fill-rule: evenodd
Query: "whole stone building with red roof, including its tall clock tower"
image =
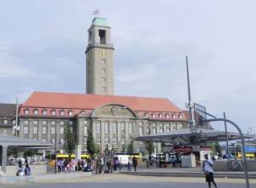
<path id="1" fill-rule="evenodd" d="M 65 127 L 69 124 L 83 151 L 88 130 L 102 151 L 107 147 L 124 151 L 134 137 L 187 128 L 188 118 L 170 100 L 113 95 L 113 50 L 107 20 L 95 18 L 85 51 L 87 94 L 34 92 L 20 104 L 18 135 L 56 143 L 59 151 L 64 149 Z M 14 111 L 15 105 L 11 106 Z M 14 123 L 11 111 L 3 114 L 4 123 Z M 6 122 L 8 116 L 12 122 Z M 14 124 L 1 126 L 3 134 L 14 134 Z M 144 152 L 143 142 L 134 141 L 134 151 Z M 154 151 L 160 152 L 160 144 L 154 145 Z"/>

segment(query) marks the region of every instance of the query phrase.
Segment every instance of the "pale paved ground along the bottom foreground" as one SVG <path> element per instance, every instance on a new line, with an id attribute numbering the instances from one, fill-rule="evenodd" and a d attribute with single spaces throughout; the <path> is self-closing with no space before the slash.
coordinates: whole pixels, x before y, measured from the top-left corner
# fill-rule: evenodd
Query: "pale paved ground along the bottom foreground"
<path id="1" fill-rule="evenodd" d="M 67 175 L 68 176 L 68 175 Z M 218 188 L 246 187 L 244 179 L 216 179 Z M 127 174 L 97 174 L 90 177 L 80 179 L 61 179 L 56 181 L 49 179 L 47 182 L 37 184 L 21 184 L 21 185 L 0 185 L 4 188 L 207 188 L 204 178 L 181 178 L 181 177 L 148 177 L 134 176 Z M 251 180 L 251 188 L 256 188 L 256 180 Z"/>

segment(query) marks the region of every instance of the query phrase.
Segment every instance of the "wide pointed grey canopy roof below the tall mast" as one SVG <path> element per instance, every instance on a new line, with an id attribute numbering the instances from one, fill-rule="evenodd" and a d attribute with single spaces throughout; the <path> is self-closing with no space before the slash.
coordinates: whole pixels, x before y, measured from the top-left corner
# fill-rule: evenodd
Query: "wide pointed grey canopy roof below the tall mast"
<path id="1" fill-rule="evenodd" d="M 228 132 L 228 138 L 229 140 L 240 140 L 240 134 Z M 244 135 L 244 138 L 249 139 L 252 137 Z M 190 128 L 183 128 L 164 134 L 138 136 L 135 140 L 172 143 L 177 145 L 199 145 L 207 141 L 225 141 L 226 134 L 224 131 L 205 128 L 197 128 L 194 133 Z"/>

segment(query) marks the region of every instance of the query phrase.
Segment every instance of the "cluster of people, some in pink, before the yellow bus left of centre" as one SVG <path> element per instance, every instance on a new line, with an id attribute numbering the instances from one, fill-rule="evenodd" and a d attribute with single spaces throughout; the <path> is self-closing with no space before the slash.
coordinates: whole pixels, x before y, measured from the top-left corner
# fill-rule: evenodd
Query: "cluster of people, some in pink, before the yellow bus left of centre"
<path id="1" fill-rule="evenodd" d="M 69 159 L 59 159 L 56 162 L 59 173 L 68 173 L 71 171 L 92 171 L 92 165 L 89 159 L 79 159 L 79 160 L 69 160 Z"/>

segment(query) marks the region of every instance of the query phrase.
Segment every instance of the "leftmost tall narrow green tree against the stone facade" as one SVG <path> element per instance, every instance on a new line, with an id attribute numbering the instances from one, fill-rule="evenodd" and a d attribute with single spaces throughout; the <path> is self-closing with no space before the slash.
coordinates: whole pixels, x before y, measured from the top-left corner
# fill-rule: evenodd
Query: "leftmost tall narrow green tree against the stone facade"
<path id="1" fill-rule="evenodd" d="M 71 158 L 72 152 L 75 150 L 75 138 L 74 134 L 71 131 L 71 126 L 69 124 L 66 125 L 64 131 L 64 149 L 67 151 L 69 158 Z"/>

